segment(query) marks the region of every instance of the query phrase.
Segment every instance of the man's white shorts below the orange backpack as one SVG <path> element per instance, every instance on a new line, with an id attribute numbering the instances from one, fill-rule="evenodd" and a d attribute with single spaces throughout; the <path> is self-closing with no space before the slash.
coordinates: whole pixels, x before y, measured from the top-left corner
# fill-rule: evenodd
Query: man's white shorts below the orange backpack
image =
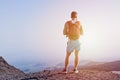
<path id="1" fill-rule="evenodd" d="M 68 40 L 67 42 L 67 52 L 73 52 L 74 50 L 80 50 L 80 41 L 78 40 Z"/>

